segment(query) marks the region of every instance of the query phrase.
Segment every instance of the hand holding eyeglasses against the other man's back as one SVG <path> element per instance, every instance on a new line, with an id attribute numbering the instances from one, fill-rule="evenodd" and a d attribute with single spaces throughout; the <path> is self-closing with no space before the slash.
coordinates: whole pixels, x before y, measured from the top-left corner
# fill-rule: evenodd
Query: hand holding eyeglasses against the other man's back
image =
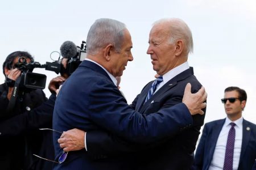
<path id="1" fill-rule="evenodd" d="M 63 148 L 65 152 L 78 151 L 85 148 L 85 133 L 85 131 L 79 129 L 64 131 L 58 139 L 60 147 Z"/>

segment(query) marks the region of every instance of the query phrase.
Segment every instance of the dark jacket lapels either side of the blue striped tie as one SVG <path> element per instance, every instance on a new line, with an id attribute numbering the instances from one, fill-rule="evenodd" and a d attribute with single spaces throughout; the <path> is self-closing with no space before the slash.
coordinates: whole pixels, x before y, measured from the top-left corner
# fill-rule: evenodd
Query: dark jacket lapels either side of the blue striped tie
<path id="1" fill-rule="evenodd" d="M 189 69 L 181 72 L 180 74 L 176 75 L 174 78 L 169 80 L 166 84 L 164 84 L 163 87 L 161 87 L 158 91 L 156 91 L 155 94 L 149 100 L 147 100 L 146 103 L 144 103 L 147 93 L 150 90 L 152 83 L 154 82 L 154 81 L 152 81 L 150 84 L 148 84 L 148 87 L 144 89 L 144 91 L 142 92 L 142 94 L 140 96 L 141 99 L 139 99 L 139 100 L 141 101 L 141 103 L 139 105 L 139 109 L 141 109 L 141 110 L 139 112 L 143 113 L 146 110 L 146 108 L 152 102 L 154 102 L 154 100 L 161 99 L 165 92 L 170 90 L 172 87 L 176 86 L 177 82 L 179 82 L 180 80 L 184 80 L 185 78 L 187 78 L 188 76 L 191 76 L 191 75 L 193 75 L 193 67 L 189 67 Z"/>

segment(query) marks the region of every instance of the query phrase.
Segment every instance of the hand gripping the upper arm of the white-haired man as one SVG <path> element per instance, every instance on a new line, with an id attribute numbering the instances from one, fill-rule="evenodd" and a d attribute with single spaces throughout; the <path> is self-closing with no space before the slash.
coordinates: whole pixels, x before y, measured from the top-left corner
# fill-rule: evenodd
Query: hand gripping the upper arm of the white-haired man
<path id="1" fill-rule="evenodd" d="M 188 107 L 191 115 L 194 114 L 204 114 L 204 109 L 207 104 L 207 92 L 205 92 L 205 88 L 201 87 L 198 92 L 195 94 L 191 93 L 191 84 L 188 83 L 185 87 L 184 96 L 182 102 Z"/>

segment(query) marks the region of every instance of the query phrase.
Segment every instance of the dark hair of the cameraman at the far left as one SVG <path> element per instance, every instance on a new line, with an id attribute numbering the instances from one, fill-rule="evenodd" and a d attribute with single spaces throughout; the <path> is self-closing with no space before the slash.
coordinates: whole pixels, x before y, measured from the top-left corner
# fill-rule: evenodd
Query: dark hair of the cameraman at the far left
<path id="1" fill-rule="evenodd" d="M 25 57 L 26 59 L 29 58 L 29 59 L 31 59 L 31 61 L 34 61 L 33 57 L 28 52 L 21 52 L 21 51 L 13 52 L 13 53 L 9 54 L 6 57 L 5 62 L 3 62 L 3 74 L 4 75 L 5 75 L 5 68 L 8 70 L 11 70 L 11 68 L 13 67 L 13 64 L 14 64 L 13 62 L 16 57 Z"/>

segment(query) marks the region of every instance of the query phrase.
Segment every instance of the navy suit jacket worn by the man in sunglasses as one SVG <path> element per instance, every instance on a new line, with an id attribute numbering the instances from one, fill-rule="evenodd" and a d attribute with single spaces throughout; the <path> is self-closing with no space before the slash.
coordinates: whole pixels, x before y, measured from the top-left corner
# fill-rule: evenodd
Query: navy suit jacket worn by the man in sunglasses
<path id="1" fill-rule="evenodd" d="M 194 169 L 207 170 L 212 162 L 218 135 L 225 119 L 205 124 L 200 143 L 197 146 Z M 251 169 L 256 159 L 256 125 L 243 120 L 242 148 L 238 170 Z"/>

